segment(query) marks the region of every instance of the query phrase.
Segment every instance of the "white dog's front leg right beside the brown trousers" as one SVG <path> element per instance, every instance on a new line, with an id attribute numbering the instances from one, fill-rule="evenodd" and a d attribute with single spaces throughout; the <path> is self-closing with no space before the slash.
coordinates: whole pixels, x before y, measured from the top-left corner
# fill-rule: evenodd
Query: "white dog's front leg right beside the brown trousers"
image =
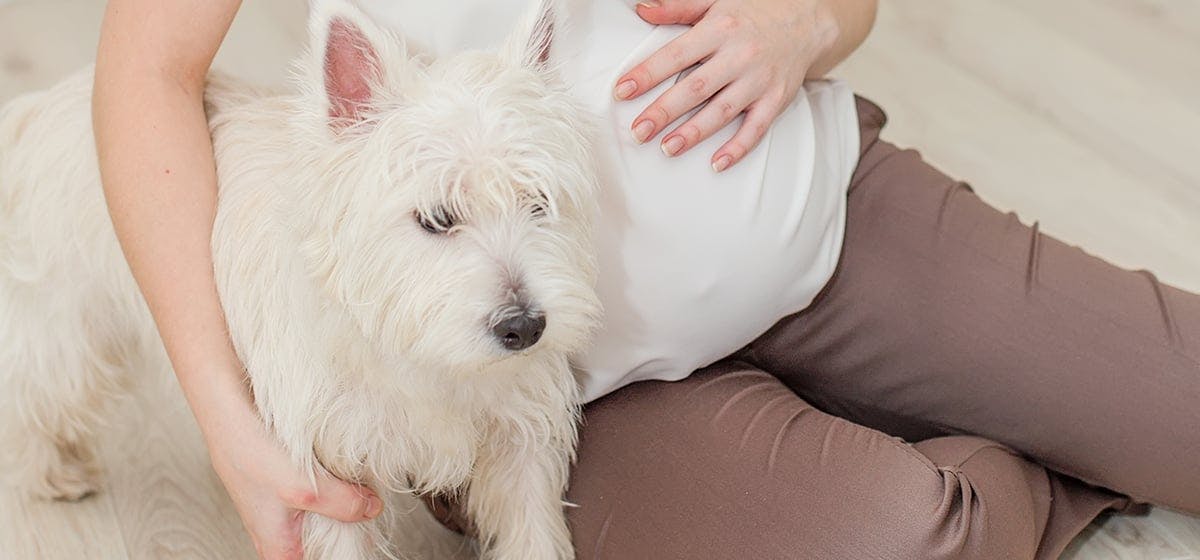
<path id="1" fill-rule="evenodd" d="M 562 422 L 571 426 L 570 438 L 530 440 L 520 430 L 500 430 L 481 450 L 467 507 L 484 560 L 575 558 L 563 512 L 574 456 L 574 419 Z"/>

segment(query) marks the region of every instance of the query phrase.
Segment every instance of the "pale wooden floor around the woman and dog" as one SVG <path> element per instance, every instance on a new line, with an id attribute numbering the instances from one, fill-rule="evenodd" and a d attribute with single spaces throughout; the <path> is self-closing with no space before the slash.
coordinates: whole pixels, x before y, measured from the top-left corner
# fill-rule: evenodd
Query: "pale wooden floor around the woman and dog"
<path id="1" fill-rule="evenodd" d="M 1200 2 L 882 4 L 875 34 L 838 74 L 888 110 L 888 139 L 1046 231 L 1200 290 Z M 280 80 L 302 6 L 246 2 L 218 65 Z M 0 102 L 85 64 L 100 8 L 0 0 Z M 253 558 L 162 365 L 120 408 L 102 458 L 107 487 L 80 504 L 24 504 L 0 489 L 0 560 Z M 468 558 L 420 510 L 402 524 L 409 558 Z M 1111 517 L 1064 558 L 1200 560 L 1200 519 Z"/>

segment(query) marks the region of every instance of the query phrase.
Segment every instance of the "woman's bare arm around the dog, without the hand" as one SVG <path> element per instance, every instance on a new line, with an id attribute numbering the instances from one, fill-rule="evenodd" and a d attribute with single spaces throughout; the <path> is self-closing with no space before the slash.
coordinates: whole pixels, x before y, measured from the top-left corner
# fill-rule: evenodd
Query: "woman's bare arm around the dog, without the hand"
<path id="1" fill-rule="evenodd" d="M 190 6 L 222 11 L 208 18 L 211 30 L 191 40 L 166 35 L 179 13 L 160 8 L 145 18 L 145 10 L 126 11 L 132 4 L 109 4 L 96 60 L 100 169 L 121 248 L 208 433 L 230 408 L 250 402 L 212 272 L 216 168 L 202 98 L 221 26 L 228 28 L 236 2 Z M 124 20 L 134 12 L 149 20 Z M 164 54 L 148 54 L 150 48 Z"/>

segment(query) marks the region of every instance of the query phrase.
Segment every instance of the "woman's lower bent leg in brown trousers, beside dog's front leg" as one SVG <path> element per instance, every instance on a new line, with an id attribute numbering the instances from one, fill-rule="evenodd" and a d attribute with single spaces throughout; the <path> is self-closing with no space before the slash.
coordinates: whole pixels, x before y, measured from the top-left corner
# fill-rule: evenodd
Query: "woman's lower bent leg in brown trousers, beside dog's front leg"
<path id="1" fill-rule="evenodd" d="M 907 445 L 727 362 L 590 404 L 568 514 L 581 560 L 1049 559 L 1114 502 L 1068 494 L 995 442 Z"/>

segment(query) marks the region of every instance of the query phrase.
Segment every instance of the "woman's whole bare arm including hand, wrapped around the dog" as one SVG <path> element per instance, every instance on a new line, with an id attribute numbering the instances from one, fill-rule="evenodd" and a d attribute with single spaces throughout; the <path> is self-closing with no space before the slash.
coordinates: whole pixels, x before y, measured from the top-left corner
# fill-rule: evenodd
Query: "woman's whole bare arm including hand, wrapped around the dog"
<path id="1" fill-rule="evenodd" d="M 370 490 L 313 489 L 263 427 L 212 272 L 216 167 L 203 94 L 240 0 L 112 0 L 92 118 L 104 195 L 212 465 L 263 558 L 300 558 L 300 510 L 374 517 Z"/>

